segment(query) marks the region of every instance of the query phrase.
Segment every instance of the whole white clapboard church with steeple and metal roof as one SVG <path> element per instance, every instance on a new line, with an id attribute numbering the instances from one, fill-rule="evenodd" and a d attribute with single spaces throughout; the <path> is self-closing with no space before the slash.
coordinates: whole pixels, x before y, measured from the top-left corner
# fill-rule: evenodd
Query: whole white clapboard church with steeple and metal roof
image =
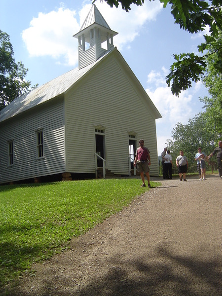
<path id="1" fill-rule="evenodd" d="M 130 176 L 141 138 L 150 175 L 158 176 L 155 120 L 161 115 L 114 47 L 115 35 L 92 5 L 74 35 L 78 67 L 0 111 L 0 184 L 95 178 L 99 170 L 104 177 Z"/>

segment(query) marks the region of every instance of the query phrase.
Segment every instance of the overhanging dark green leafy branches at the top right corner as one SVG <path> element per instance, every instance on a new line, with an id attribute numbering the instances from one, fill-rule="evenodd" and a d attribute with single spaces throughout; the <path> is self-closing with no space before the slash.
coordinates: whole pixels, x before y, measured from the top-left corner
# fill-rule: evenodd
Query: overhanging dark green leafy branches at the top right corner
<path id="1" fill-rule="evenodd" d="M 93 0 L 93 3 L 96 0 Z M 100 0 L 103 1 L 103 0 Z M 130 5 L 142 5 L 145 0 L 105 0 L 111 7 L 118 7 L 119 3 L 127 12 Z M 151 1 L 151 0 L 149 0 Z M 198 51 L 203 54 L 212 44 L 215 46 L 215 54 L 218 59 L 213 66 L 217 73 L 222 74 L 222 44 L 217 43 L 219 31 L 222 30 L 222 0 L 160 0 L 164 8 L 171 5 L 171 14 L 175 23 L 181 29 L 193 34 L 203 32 L 209 27 L 209 36 L 204 35 L 205 42 L 198 46 Z M 179 96 L 182 90 L 191 87 L 192 81 L 197 82 L 205 72 L 207 55 L 194 53 L 182 53 L 173 55 L 176 62 L 170 68 L 166 76 L 166 82 L 171 87 L 172 94 Z"/>

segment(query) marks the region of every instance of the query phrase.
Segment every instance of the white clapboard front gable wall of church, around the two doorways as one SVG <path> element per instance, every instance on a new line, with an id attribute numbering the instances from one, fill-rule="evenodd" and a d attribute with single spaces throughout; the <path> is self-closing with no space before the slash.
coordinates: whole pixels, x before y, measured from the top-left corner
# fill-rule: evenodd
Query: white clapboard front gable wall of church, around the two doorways
<path id="1" fill-rule="evenodd" d="M 150 174 L 158 175 L 155 118 L 138 93 L 112 58 L 65 100 L 67 171 L 95 172 L 95 126 L 102 125 L 108 169 L 129 174 L 128 132 L 135 131 L 150 150 Z"/>

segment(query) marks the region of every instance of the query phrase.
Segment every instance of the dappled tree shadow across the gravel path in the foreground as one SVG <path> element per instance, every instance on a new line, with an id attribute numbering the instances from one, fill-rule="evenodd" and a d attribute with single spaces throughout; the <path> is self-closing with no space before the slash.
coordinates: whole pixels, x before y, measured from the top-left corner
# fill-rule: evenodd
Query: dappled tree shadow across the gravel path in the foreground
<path id="1" fill-rule="evenodd" d="M 149 251 L 139 259 L 122 260 L 122 254 L 103 261 L 104 273 L 91 272 L 85 283 L 75 284 L 64 273 L 55 281 L 41 281 L 40 290 L 29 295 L 59 296 L 222 296 L 222 258 L 200 260 L 179 256 L 167 246 L 155 249 L 155 257 Z M 102 262 L 101 262 L 102 263 Z M 72 264 L 72 263 L 71 263 Z M 109 267 L 107 267 L 109 266 Z M 77 268 L 76 268 L 77 269 Z M 74 269 L 72 269 L 74 270 Z M 75 278 L 75 271 L 73 277 Z M 43 277 L 43 276 L 42 276 Z M 84 274 L 81 276 L 84 279 Z M 59 284 L 60 283 L 60 284 Z M 10 295 L 25 296 L 19 288 Z"/>

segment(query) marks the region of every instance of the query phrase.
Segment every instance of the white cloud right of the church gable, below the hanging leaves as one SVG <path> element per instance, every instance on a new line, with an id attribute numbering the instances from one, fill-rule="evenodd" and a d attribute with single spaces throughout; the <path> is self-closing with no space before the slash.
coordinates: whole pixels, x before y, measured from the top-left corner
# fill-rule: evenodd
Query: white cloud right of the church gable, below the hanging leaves
<path id="1" fill-rule="evenodd" d="M 178 122 L 188 123 L 188 119 L 201 111 L 203 105 L 197 100 L 202 92 L 206 92 L 201 81 L 193 83 L 191 89 L 182 91 L 179 98 L 171 93 L 165 76 L 169 72 L 162 67 L 162 72 L 151 71 L 148 74 L 148 96 L 156 106 L 162 118 L 156 120 L 158 155 L 166 146 L 166 140 L 172 139 L 172 131 Z"/>

